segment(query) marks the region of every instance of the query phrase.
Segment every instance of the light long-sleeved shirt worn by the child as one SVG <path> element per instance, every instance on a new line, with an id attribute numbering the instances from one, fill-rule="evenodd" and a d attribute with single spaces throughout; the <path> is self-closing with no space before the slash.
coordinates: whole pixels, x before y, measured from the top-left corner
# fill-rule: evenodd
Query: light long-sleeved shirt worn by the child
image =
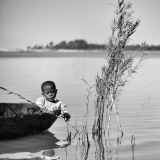
<path id="1" fill-rule="evenodd" d="M 68 113 L 67 106 L 57 99 L 55 100 L 55 103 L 53 103 L 53 102 L 46 100 L 45 97 L 39 97 L 36 100 L 36 104 L 39 107 L 47 109 L 49 111 L 60 110 L 61 114 Z"/>

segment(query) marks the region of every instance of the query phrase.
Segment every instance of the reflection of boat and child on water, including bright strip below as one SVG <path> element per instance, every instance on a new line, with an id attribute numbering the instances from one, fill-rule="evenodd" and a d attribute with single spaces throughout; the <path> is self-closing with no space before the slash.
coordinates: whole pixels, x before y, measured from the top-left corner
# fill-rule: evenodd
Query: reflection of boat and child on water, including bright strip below
<path id="1" fill-rule="evenodd" d="M 70 143 L 68 138 L 60 142 L 54 134 L 47 131 L 27 137 L 0 141 L 0 159 L 61 159 L 55 149 L 65 148 Z"/>

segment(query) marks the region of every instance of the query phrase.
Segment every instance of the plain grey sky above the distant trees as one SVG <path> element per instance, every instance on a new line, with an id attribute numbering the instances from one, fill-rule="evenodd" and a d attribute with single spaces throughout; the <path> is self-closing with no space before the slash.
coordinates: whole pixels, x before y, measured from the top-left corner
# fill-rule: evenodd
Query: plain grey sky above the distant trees
<path id="1" fill-rule="evenodd" d="M 118 0 L 0 0 L 0 48 L 84 39 L 104 44 Z M 141 23 L 129 44 L 160 44 L 160 0 L 132 0 Z M 112 5 L 111 5 L 112 4 Z"/>

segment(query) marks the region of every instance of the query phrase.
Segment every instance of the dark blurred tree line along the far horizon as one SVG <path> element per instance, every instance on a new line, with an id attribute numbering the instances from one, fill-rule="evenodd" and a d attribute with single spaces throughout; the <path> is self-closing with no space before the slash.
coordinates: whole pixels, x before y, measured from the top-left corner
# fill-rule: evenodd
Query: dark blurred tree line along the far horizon
<path id="1" fill-rule="evenodd" d="M 140 45 L 128 45 L 126 46 L 126 50 L 137 50 L 140 48 Z M 62 41 L 58 44 L 50 42 L 46 46 L 43 45 L 34 45 L 33 47 L 28 46 L 27 50 L 57 50 L 57 49 L 77 49 L 77 50 L 105 50 L 105 44 L 94 44 L 87 43 L 85 40 L 74 40 L 74 41 Z M 160 45 L 146 45 L 146 50 L 160 50 Z"/>

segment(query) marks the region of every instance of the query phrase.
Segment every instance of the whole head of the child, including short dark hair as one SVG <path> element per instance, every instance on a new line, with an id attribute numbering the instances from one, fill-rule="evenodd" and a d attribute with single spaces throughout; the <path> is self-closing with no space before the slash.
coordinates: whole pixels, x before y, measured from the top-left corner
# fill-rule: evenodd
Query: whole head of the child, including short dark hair
<path id="1" fill-rule="evenodd" d="M 56 85 L 52 81 L 46 81 L 42 83 L 41 85 L 42 95 L 48 100 L 48 101 L 54 101 L 57 94 Z"/>

